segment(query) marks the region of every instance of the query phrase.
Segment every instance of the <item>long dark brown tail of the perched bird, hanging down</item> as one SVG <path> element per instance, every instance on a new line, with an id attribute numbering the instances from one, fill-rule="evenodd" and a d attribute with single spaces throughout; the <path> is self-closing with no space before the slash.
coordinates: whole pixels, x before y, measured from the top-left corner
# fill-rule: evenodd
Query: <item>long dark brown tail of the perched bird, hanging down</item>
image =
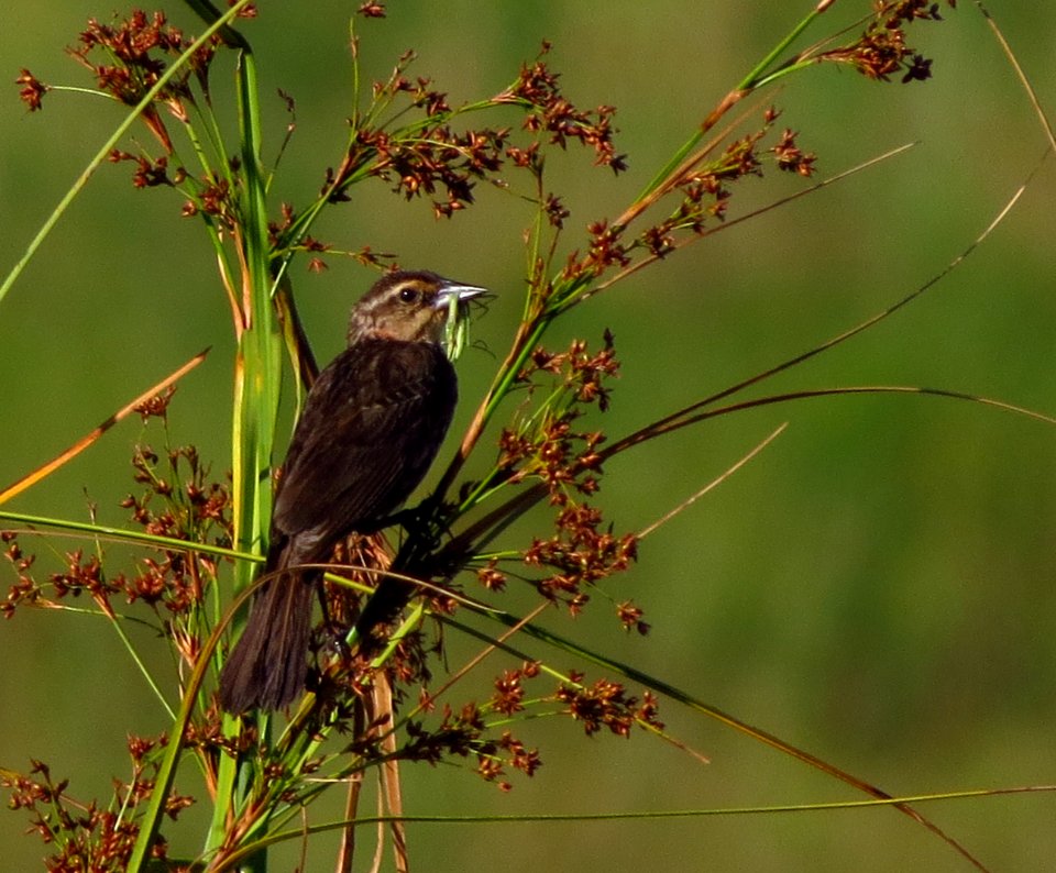
<path id="1" fill-rule="evenodd" d="M 304 689 L 317 576 L 282 573 L 256 595 L 220 673 L 220 705 L 227 711 L 282 709 Z"/>

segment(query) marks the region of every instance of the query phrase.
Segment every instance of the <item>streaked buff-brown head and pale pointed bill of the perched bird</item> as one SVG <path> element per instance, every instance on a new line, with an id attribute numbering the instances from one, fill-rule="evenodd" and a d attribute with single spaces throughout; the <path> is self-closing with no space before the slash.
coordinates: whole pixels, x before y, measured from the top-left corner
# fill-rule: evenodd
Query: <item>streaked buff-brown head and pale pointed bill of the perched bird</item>
<path id="1" fill-rule="evenodd" d="M 427 270 L 386 274 L 352 308 L 349 345 L 364 339 L 439 343 L 449 314 L 484 294 Z"/>

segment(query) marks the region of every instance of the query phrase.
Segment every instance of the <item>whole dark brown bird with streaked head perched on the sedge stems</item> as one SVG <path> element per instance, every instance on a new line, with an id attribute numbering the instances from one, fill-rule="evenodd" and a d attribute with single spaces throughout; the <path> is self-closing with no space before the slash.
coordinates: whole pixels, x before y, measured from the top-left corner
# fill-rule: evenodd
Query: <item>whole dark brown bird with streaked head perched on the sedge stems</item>
<path id="1" fill-rule="evenodd" d="M 322 573 L 298 567 L 376 530 L 421 482 L 458 397 L 440 347 L 452 298 L 481 294 L 435 273 L 391 273 L 353 307 L 349 347 L 319 374 L 286 454 L 264 567 L 277 575 L 220 674 L 229 712 L 280 709 L 302 689 Z"/>

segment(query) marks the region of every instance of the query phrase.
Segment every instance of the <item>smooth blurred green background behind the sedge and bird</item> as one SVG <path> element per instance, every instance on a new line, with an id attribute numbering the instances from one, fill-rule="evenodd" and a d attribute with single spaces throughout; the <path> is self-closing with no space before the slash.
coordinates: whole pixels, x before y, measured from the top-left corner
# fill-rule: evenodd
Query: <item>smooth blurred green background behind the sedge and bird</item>
<path id="1" fill-rule="evenodd" d="M 272 151 L 297 100 L 298 129 L 276 200 L 305 202 L 337 162 L 351 111 L 348 19 L 358 3 L 261 3 L 246 25 L 262 70 Z M 452 101 L 497 92 L 540 42 L 584 106 L 618 108 L 630 172 L 613 179 L 575 150 L 552 161 L 572 209 L 566 242 L 614 216 L 703 115 L 811 2 L 393 3 L 360 23 L 370 78 L 414 47 L 414 74 Z M 815 31 L 871 3 L 843 0 Z M 993 11 L 1049 109 L 1056 100 L 1056 8 Z M 623 360 L 606 430 L 618 435 L 787 357 L 883 309 L 961 252 L 1036 165 L 1045 141 L 1028 101 L 971 4 L 943 7 L 911 44 L 935 58 L 926 85 L 881 86 L 820 68 L 769 99 L 816 151 L 822 176 L 910 141 L 866 174 L 701 242 L 575 312 L 551 344 L 616 334 Z M 30 115 L 13 79 L 85 84 L 63 54 L 90 15 L 112 5 L 48 0 L 6 11 L 0 58 L 0 265 L 7 270 L 118 122 L 97 99 L 51 95 Z M 200 26 L 169 10 L 188 31 Z M 218 70 L 221 90 L 230 79 Z M 274 96 L 274 97 L 273 97 Z M 136 135 L 143 135 L 136 131 Z M 986 245 L 923 299 L 767 390 L 904 384 L 950 388 L 1056 412 L 1056 166 L 1047 162 Z M 177 197 L 135 191 L 127 166 L 105 166 L 0 308 L 0 480 L 10 482 L 88 431 L 207 345 L 180 386 L 174 439 L 215 469 L 229 462 L 231 355 L 227 302 L 209 246 Z M 744 186 L 733 214 L 798 190 L 776 172 Z M 502 355 L 518 316 L 527 207 L 488 189 L 453 221 L 361 186 L 316 234 L 370 244 L 499 292 L 475 336 Z M 340 258 L 295 289 L 320 357 L 342 343 L 350 302 L 370 284 Z M 463 418 L 494 358 L 460 363 Z M 893 794 L 1056 781 L 1056 429 L 977 405 L 912 396 L 811 400 L 713 420 L 613 462 L 602 493 L 619 530 L 637 530 L 689 497 L 781 422 L 760 458 L 642 543 L 615 578 L 652 633 L 625 636 L 605 611 L 549 623 L 632 662 Z M 458 430 L 458 422 L 453 431 Z M 123 523 L 138 421 L 112 431 L 10 507 Z M 536 529 L 546 523 L 540 517 Z M 29 544 L 26 540 L 26 545 Z M 41 543 L 38 566 L 77 543 Z M 48 554 L 53 549 L 55 555 Z M 2 581 L 11 578 L 3 571 Z M 45 575 L 42 573 L 41 575 Z M 165 668 L 160 643 L 143 640 Z M 544 654 L 540 652 L 540 654 Z M 102 622 L 23 611 L 0 625 L 0 765 L 47 761 L 75 796 L 105 797 L 128 777 L 124 737 L 163 729 L 161 712 Z M 569 666 L 559 656 L 558 666 Z M 496 660 L 488 674 L 502 664 Z M 486 678 L 486 676 L 485 676 Z M 461 697 L 458 697 L 461 699 Z M 471 773 L 405 771 L 408 811 L 604 813 L 860 799 L 849 788 L 667 704 L 671 732 L 711 756 L 697 765 L 661 742 L 528 725 L 544 766 L 499 795 Z M 193 786 L 191 786 L 193 787 Z M 196 788 L 197 791 L 197 788 Z M 923 811 L 1002 871 L 1056 865 L 1056 797 L 957 800 Z M 194 821 L 194 819 L 189 819 Z M 8 870 L 40 869 L 21 814 L 0 817 Z M 194 852 L 194 827 L 170 835 Z M 602 824 L 422 826 L 419 870 L 965 870 L 953 850 L 887 810 Z M 309 869 L 330 869 L 327 843 Z M 292 868 L 293 857 L 276 862 Z M 365 859 L 361 859 L 365 860 Z M 287 864 L 288 866 L 284 866 Z"/>

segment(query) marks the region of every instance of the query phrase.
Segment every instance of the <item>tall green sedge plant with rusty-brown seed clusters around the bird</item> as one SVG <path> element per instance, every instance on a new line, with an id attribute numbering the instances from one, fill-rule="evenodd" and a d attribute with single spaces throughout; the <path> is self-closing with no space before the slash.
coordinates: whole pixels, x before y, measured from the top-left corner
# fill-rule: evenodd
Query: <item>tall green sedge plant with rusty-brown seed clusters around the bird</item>
<path id="1" fill-rule="evenodd" d="M 68 555 L 62 572 L 41 582 L 34 575 L 33 556 L 21 546 L 28 523 L 70 534 L 98 529 L 3 513 L 13 526 L 22 526 L 4 533 L 16 575 L 3 607 L 7 615 L 30 606 L 62 605 L 70 594 L 87 593 L 98 610 L 116 620 L 114 601 L 124 597 L 133 608 L 152 612 L 173 641 L 183 667 L 179 706 L 170 710 L 172 729 L 165 738 L 132 741 L 135 777 L 117 787 L 112 804 L 92 806 L 87 816 L 74 815 L 64 783 L 54 780 L 44 764 L 34 765 L 29 774 L 4 774 L 12 805 L 26 809 L 48 840 L 56 869 L 264 869 L 270 846 L 327 829 L 344 832 L 339 869 L 350 869 L 354 828 L 366 820 L 359 810 L 361 785 L 371 772 L 380 774 L 392 818 L 396 865 L 408 869 L 406 835 L 399 825 L 398 762 L 469 759 L 482 777 L 499 784 L 507 784 L 512 772 L 530 776 L 539 766 L 540 752 L 513 733 L 516 725 L 521 726 L 518 730 L 527 727 L 519 721 L 526 714 L 571 717 L 587 736 L 603 730 L 627 736 L 642 729 L 676 742 L 660 720 L 658 695 L 718 719 L 878 802 L 892 803 L 970 859 L 967 850 L 914 806 L 662 678 L 532 622 L 548 606 L 558 605 L 571 615 L 587 608 L 592 596 L 603 590 L 602 583 L 637 559 L 640 534 L 615 532 L 597 501 L 604 465 L 615 455 L 761 404 L 848 390 L 923 390 L 833 389 L 728 399 L 871 327 L 920 291 L 793 361 L 659 416 L 615 440 L 584 424 L 587 410 L 604 411 L 610 400 L 610 379 L 619 366 L 612 335 L 606 332 L 593 347 L 579 340 L 561 350 L 547 349 L 544 343 L 550 328 L 573 308 L 744 220 L 733 216 L 732 203 L 737 189 L 750 179 L 773 169 L 788 172 L 803 179 L 802 194 L 807 194 L 839 178 L 814 180 L 815 155 L 801 148 L 795 132 L 778 123 L 776 108 L 749 98 L 820 64 L 847 65 L 878 80 L 924 81 L 931 62 L 909 47 L 906 33 L 917 22 L 939 20 L 939 5 L 913 0 L 871 4 L 850 29 L 798 48 L 804 34 L 825 21 L 834 5 L 833 0 L 817 3 L 702 120 L 638 197 L 616 218 L 597 218 L 585 239 L 571 243 L 565 226 L 569 210 L 550 189 L 548 151 L 579 145 L 596 165 L 617 174 L 626 163 L 614 142 L 613 110 L 584 111 L 569 101 L 547 63 L 548 46 L 524 65 L 507 88 L 463 106 L 450 104 L 429 79 L 413 78 L 414 57 L 405 55 L 387 79 L 372 86 L 369 97 L 358 95 L 342 154 L 326 172 L 318 197 L 298 208 L 272 202 L 273 170 L 261 157 L 267 125 L 246 35 L 252 29 L 241 20 L 256 13 L 254 5 L 240 0 L 222 14 L 207 1 L 188 0 L 188 5 L 204 22 L 197 38 L 185 36 L 162 13 L 133 12 L 109 24 L 89 22 L 72 54 L 90 71 L 94 90 L 130 107 L 127 120 L 0 287 L 2 298 L 90 172 L 109 159 L 130 166 L 138 187 L 180 195 L 183 214 L 201 222 L 217 255 L 238 340 L 230 485 L 211 478 L 191 449 L 172 449 L 164 457 L 141 450 L 134 458 L 142 493 L 130 497 L 127 508 L 139 530 L 111 535 L 154 555 L 142 559 L 141 572 L 125 577 L 108 571 L 98 556 L 86 559 L 78 551 Z M 380 3 L 364 3 L 359 10 L 367 18 L 384 12 Z M 261 16 L 266 24 L 266 8 Z M 353 32 L 356 82 L 358 41 Z M 237 59 L 239 142 L 234 146 L 224 140 L 224 125 L 211 99 L 219 87 L 212 62 L 226 52 Z M 19 82 L 31 109 L 40 109 L 44 100 L 65 90 L 41 82 L 29 70 L 22 71 Z M 519 113 L 516 132 L 485 123 L 495 112 L 505 118 L 510 110 Z M 152 148 L 119 147 L 135 121 L 150 131 Z M 320 644 L 311 689 L 296 711 L 279 721 L 224 716 L 215 703 L 215 676 L 230 633 L 238 628 L 238 607 L 254 585 L 257 556 L 266 549 L 284 349 L 299 384 L 310 385 L 317 372 L 297 314 L 289 265 L 298 257 L 320 265 L 332 254 L 332 246 L 311 235 L 316 221 L 328 210 L 354 203 L 362 183 L 381 179 L 407 200 L 428 199 L 438 218 L 451 219 L 474 206 L 474 185 L 497 181 L 499 175 L 504 184 L 517 180 L 517 190 L 535 208 L 527 236 L 524 308 L 457 455 L 430 499 L 405 519 L 398 546 L 380 538 L 356 538 L 336 555 L 328 596 L 334 615 L 353 628 L 350 648 L 346 652 L 341 645 Z M 380 268 L 392 259 L 369 245 L 354 256 Z M 452 354 L 458 339 L 450 338 Z M 121 417 L 134 410 L 164 423 L 175 378 L 155 386 Z M 519 402 L 512 402 L 515 397 Z M 30 487 L 109 427 L 102 426 L 61 460 L 0 493 L 0 500 Z M 486 454 L 496 442 L 494 463 L 479 478 L 466 478 L 471 454 Z M 512 522 L 540 505 L 551 510 L 551 529 L 527 545 L 512 542 L 507 535 Z M 528 616 L 515 617 L 484 605 L 463 588 L 466 571 L 487 595 L 527 583 L 538 593 L 540 606 Z M 398 606 L 417 599 L 389 638 L 367 647 L 362 632 L 354 630 L 355 616 L 383 600 L 392 605 L 394 598 Z M 501 603 L 497 597 L 490 599 Z M 612 606 L 626 629 L 648 631 L 632 600 Z M 477 614 L 491 630 L 483 632 L 466 621 L 461 615 L 465 610 Z M 449 632 L 480 639 L 487 647 L 485 652 L 505 652 L 517 666 L 496 678 L 488 698 L 439 707 L 440 695 L 477 661 L 436 688 L 433 673 L 442 637 L 433 636 L 426 616 Z M 521 650 L 519 640 L 525 637 L 541 640 L 556 653 L 574 654 L 603 668 L 605 675 L 560 671 L 535 660 Z M 631 693 L 628 682 L 644 690 Z M 172 689 L 164 683 L 158 686 L 158 696 L 169 699 Z M 189 766 L 191 760 L 202 774 L 213 813 L 200 855 L 177 860 L 168 857 L 162 826 L 165 817 L 177 819 L 191 803 L 174 788 L 180 767 Z M 336 789 L 348 793 L 344 819 L 305 825 L 305 810 Z M 169 827 L 175 826 L 165 826 Z"/>

